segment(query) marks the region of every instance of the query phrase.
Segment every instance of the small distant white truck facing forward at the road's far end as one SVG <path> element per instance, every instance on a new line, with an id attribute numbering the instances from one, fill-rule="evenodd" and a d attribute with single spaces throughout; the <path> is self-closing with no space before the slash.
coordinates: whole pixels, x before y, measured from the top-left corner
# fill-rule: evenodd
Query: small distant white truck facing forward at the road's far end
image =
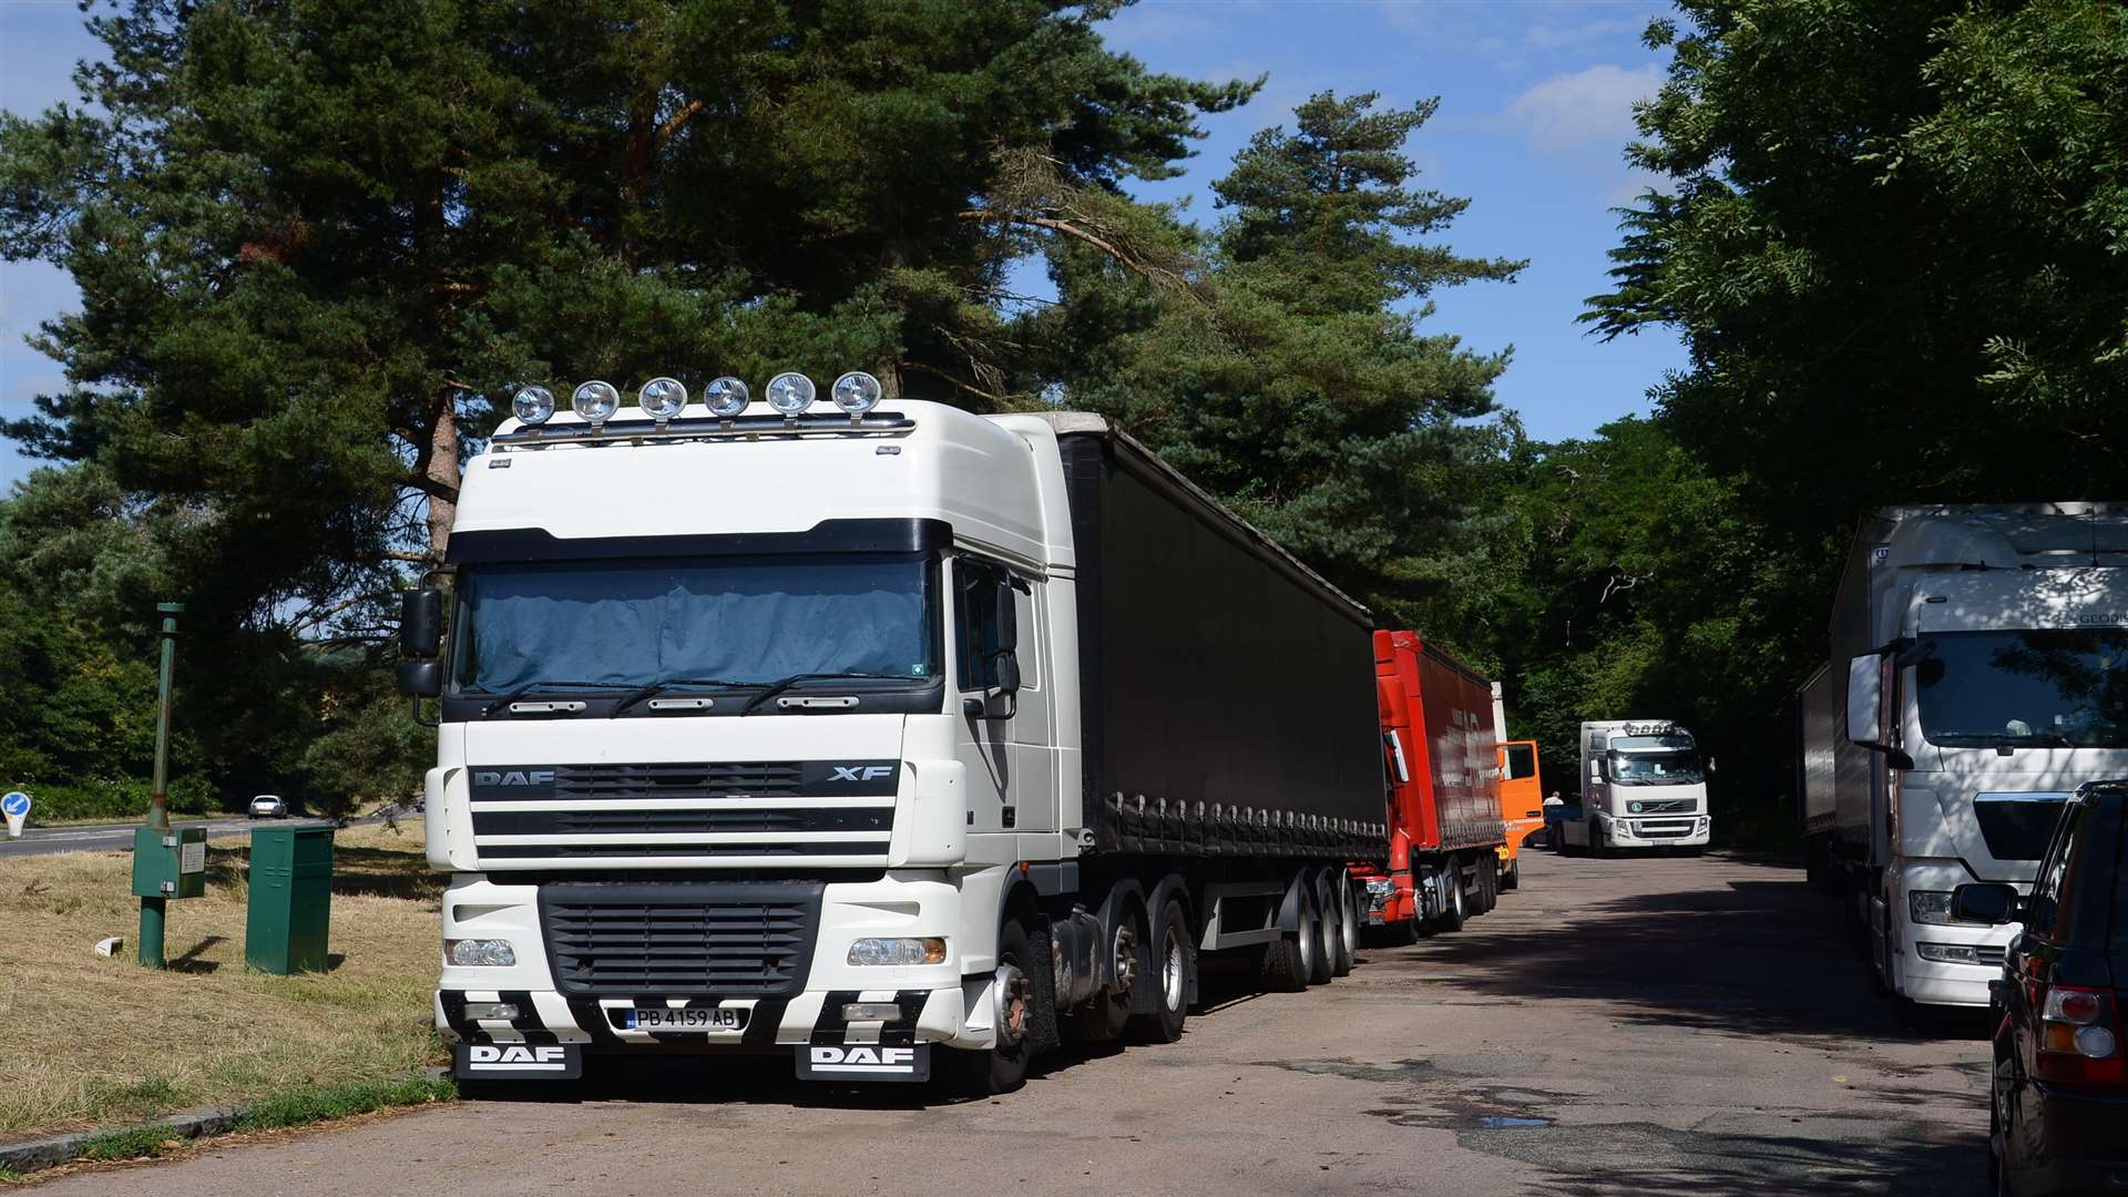
<path id="1" fill-rule="evenodd" d="M 1581 724 L 1581 803 L 1558 826 L 1560 852 L 1683 848 L 1713 837 L 1707 771 L 1692 733 L 1668 720 Z"/>

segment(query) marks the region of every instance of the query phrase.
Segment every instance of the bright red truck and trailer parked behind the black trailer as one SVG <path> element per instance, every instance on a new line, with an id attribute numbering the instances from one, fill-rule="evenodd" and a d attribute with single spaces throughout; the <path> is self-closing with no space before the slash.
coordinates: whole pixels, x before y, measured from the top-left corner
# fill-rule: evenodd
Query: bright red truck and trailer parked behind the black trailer
<path id="1" fill-rule="evenodd" d="M 1356 863 L 1366 924 L 1411 941 L 1460 931 L 1500 895 L 1500 767 L 1492 682 L 1417 633 L 1375 633 L 1390 869 Z"/>

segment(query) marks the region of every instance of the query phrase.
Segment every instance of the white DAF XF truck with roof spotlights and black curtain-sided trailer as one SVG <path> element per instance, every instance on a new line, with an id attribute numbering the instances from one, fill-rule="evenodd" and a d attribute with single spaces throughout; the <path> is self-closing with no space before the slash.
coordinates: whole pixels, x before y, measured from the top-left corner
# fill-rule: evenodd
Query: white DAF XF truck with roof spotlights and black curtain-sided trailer
<path id="1" fill-rule="evenodd" d="M 996 1093 L 1173 1042 L 1200 952 L 1351 967 L 1364 607 L 1100 417 L 764 398 L 526 388 L 466 466 L 400 667 L 460 1078 L 781 1052 Z"/>

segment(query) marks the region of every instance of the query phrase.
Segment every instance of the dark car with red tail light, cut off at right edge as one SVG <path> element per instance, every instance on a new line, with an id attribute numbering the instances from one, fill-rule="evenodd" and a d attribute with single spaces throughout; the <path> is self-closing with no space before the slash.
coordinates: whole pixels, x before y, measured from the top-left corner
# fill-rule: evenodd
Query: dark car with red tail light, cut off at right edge
<path id="1" fill-rule="evenodd" d="M 2081 786 L 2054 824 L 2032 897 L 1958 886 L 1954 912 L 2024 922 L 1994 982 L 1990 1159 L 1996 1191 L 2128 1193 L 2128 782 Z"/>

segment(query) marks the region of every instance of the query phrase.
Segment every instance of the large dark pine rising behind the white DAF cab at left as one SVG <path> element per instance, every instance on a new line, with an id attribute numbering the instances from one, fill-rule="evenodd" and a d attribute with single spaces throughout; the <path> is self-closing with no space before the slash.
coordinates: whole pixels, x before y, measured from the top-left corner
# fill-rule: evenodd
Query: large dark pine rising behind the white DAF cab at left
<path id="1" fill-rule="evenodd" d="M 440 556 L 515 386 L 868 366 L 985 407 L 1015 258 L 1158 266 L 1121 183 L 1256 85 L 1109 51 L 1117 6 L 98 13 L 85 104 L 0 115 L 0 253 L 83 292 L 40 339 L 66 388 L 9 428 L 89 471 L 11 515 L 74 554 L 30 601 L 100 579 L 113 643 L 187 601 L 196 658 L 240 662 L 187 684 L 217 782 L 340 801 L 406 731 L 375 694 L 392 592 Z M 66 507 L 81 488 L 94 509 Z"/>

